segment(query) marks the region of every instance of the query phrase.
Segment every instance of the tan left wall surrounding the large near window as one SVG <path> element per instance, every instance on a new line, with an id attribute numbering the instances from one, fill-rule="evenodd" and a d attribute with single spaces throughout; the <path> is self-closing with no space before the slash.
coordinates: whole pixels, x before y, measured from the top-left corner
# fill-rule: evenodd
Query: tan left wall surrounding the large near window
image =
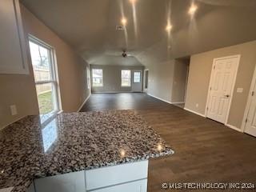
<path id="1" fill-rule="evenodd" d="M 54 46 L 58 63 L 58 78 L 62 98 L 62 110 L 76 111 L 90 94 L 86 86 L 86 62 L 57 34 L 21 5 L 22 22 L 26 34 L 33 34 Z M 8 38 L 8 37 L 6 37 Z M 0 128 L 30 114 L 38 114 L 38 101 L 34 85 L 34 75 L 30 62 L 30 74 L 0 74 Z M 10 114 L 10 105 L 16 105 L 18 114 Z"/>

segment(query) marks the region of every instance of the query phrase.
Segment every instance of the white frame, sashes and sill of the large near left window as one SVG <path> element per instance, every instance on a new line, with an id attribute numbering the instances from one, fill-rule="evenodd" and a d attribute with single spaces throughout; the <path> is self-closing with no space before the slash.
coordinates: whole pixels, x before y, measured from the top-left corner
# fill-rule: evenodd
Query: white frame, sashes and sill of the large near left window
<path id="1" fill-rule="evenodd" d="M 52 110 L 46 114 L 40 114 L 40 110 L 39 110 L 39 114 L 42 116 L 44 121 L 46 121 L 52 115 L 62 112 L 60 90 L 59 90 L 59 86 L 58 86 L 58 70 L 57 70 L 57 62 L 56 62 L 56 58 L 55 58 L 55 50 L 54 50 L 53 46 L 48 45 L 46 42 L 42 42 L 42 40 L 34 37 L 31 34 L 29 34 L 29 38 L 28 38 L 28 43 L 30 43 L 30 42 L 33 42 L 34 44 L 37 44 L 38 46 L 42 46 L 43 48 L 45 48 L 48 51 L 48 54 L 49 54 L 48 56 L 49 56 L 49 61 L 50 61 L 50 80 L 37 81 L 34 78 L 35 87 L 37 87 L 38 85 L 44 85 L 44 84 L 48 84 L 48 83 L 50 83 L 50 85 L 52 87 L 54 110 Z M 29 45 L 29 49 L 30 49 L 30 45 Z M 30 62 L 31 62 L 33 74 L 34 74 L 31 53 L 30 53 Z M 38 97 L 37 97 L 37 100 L 38 100 Z M 38 108 L 39 108 L 39 102 L 38 102 Z"/>

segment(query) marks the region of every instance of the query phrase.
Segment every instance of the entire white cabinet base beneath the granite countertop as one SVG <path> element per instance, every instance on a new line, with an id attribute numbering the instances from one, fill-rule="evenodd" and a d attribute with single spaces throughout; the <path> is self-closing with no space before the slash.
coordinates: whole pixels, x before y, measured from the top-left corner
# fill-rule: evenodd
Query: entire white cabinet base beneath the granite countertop
<path id="1" fill-rule="evenodd" d="M 36 192 L 146 192 L 148 161 L 34 180 Z"/>

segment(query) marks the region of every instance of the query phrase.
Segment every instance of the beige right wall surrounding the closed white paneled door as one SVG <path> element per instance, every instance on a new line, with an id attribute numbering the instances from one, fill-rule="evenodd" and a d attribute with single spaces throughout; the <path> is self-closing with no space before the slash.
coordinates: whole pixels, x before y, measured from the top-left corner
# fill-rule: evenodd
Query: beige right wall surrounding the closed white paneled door
<path id="1" fill-rule="evenodd" d="M 228 124 L 241 128 L 250 82 L 256 65 L 256 41 L 192 55 L 190 58 L 190 74 L 185 107 L 199 114 L 205 114 L 213 60 L 214 58 L 235 54 L 240 54 L 241 59 L 230 106 Z M 237 93 L 237 88 L 243 88 L 243 92 Z M 196 106 L 197 104 L 198 107 Z"/>

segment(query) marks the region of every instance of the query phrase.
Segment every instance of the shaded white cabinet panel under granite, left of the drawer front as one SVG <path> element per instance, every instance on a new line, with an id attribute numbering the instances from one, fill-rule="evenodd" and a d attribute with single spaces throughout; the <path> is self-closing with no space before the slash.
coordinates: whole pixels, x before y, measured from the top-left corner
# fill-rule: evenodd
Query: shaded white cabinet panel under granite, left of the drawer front
<path id="1" fill-rule="evenodd" d="M 85 172 L 59 174 L 34 181 L 36 192 L 85 192 Z"/>

